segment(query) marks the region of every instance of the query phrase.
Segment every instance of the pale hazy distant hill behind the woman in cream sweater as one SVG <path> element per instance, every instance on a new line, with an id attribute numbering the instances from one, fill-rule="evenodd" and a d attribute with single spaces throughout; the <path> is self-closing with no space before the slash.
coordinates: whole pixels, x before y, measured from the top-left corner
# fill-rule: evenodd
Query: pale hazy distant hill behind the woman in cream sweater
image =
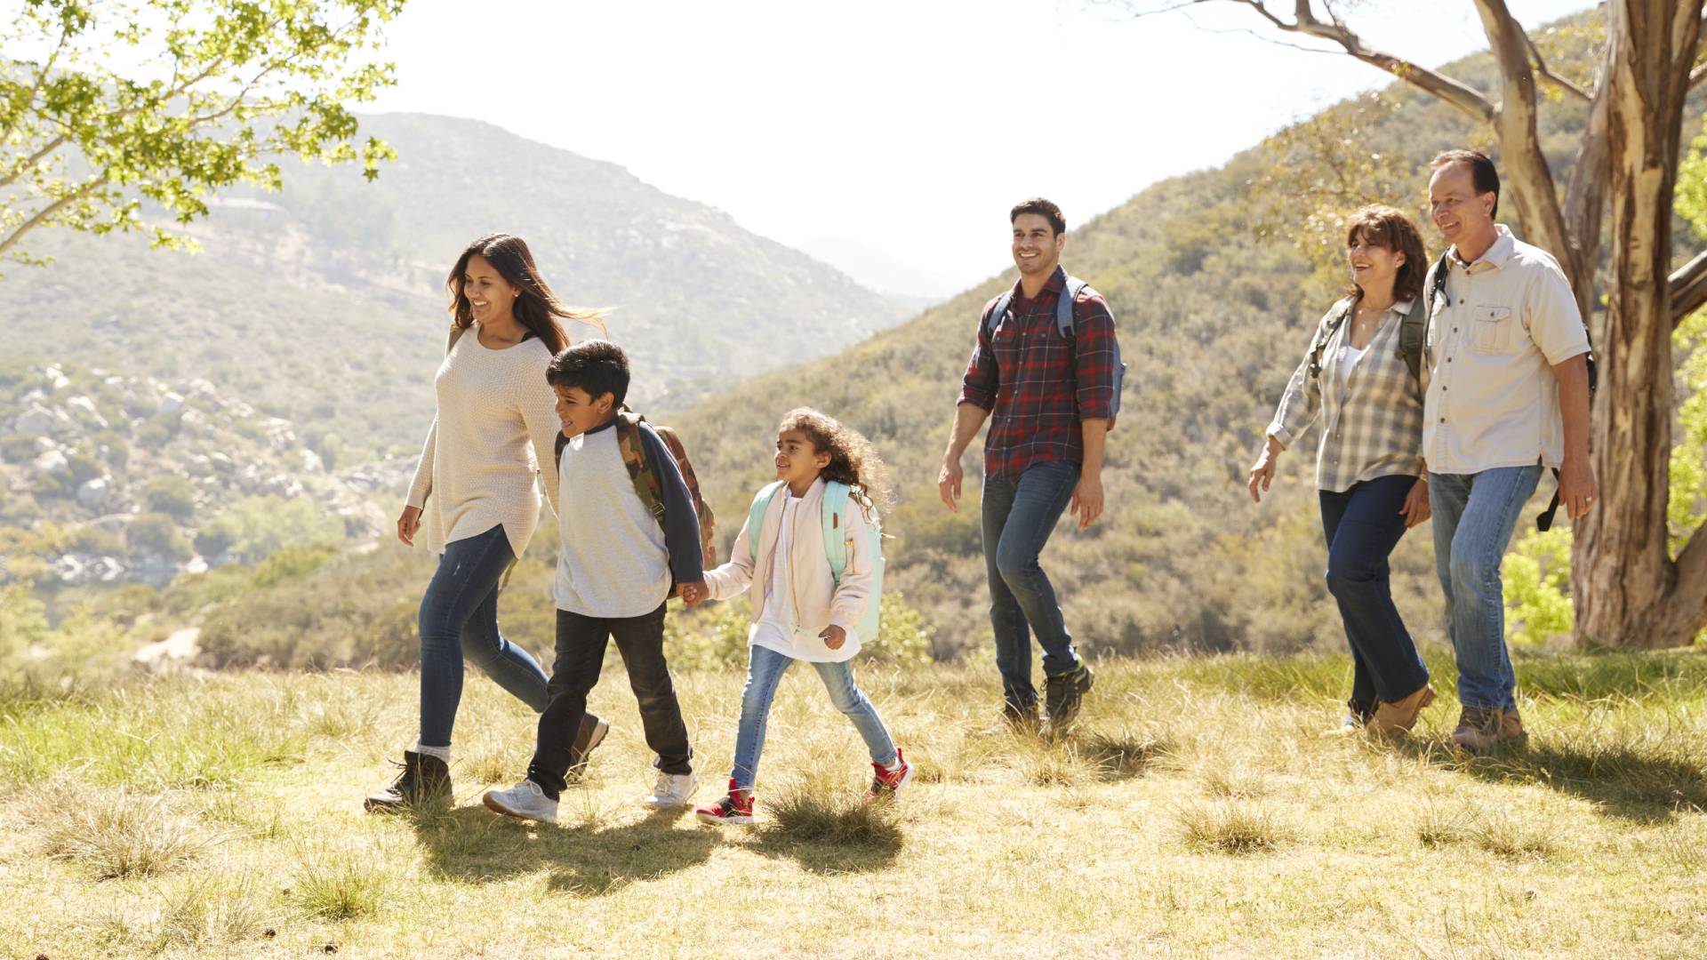
<path id="1" fill-rule="evenodd" d="M 683 403 L 903 316 L 616 164 L 442 116 L 369 116 L 364 133 L 399 155 L 379 181 L 290 166 L 278 195 L 222 196 L 191 229 L 196 256 L 138 237 L 43 236 L 56 263 L 0 280 L 7 357 L 207 379 L 333 434 L 353 463 L 418 449 L 444 278 L 486 232 L 526 237 L 565 301 L 616 307 L 611 335 L 635 354 L 640 398 Z"/>

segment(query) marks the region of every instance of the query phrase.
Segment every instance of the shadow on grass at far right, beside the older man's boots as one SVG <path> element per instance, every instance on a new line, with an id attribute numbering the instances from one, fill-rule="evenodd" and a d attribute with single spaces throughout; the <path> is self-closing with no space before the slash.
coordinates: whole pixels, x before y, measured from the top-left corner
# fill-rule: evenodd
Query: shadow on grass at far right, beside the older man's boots
<path id="1" fill-rule="evenodd" d="M 1681 757 L 1627 745 L 1536 741 L 1473 757 L 1441 740 L 1407 740 L 1400 750 L 1495 784 L 1540 784 L 1594 805 L 1605 817 L 1669 823 L 1680 811 L 1707 810 L 1707 772 Z"/>

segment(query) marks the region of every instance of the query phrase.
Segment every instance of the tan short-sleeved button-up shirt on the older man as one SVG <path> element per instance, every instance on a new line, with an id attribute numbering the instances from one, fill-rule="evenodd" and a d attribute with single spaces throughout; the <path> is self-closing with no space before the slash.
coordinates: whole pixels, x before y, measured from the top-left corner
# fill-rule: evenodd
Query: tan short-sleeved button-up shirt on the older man
<path id="1" fill-rule="evenodd" d="M 1430 473 L 1558 466 L 1565 425 L 1553 366 L 1588 354 L 1570 282 L 1545 249 L 1504 224 L 1480 260 L 1446 256 L 1424 354 L 1422 454 Z M 1424 290 L 1434 287 L 1434 268 Z"/>

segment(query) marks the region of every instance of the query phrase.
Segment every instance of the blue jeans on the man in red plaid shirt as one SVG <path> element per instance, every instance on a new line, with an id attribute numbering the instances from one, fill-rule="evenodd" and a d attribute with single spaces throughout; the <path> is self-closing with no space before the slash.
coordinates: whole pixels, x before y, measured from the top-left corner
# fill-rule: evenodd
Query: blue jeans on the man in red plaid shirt
<path id="1" fill-rule="evenodd" d="M 1002 699 L 1012 707 L 1038 702 L 1031 683 L 1031 632 L 1043 647 L 1043 673 L 1079 668 L 1079 654 L 1062 618 L 1055 586 L 1038 565 L 1055 523 L 1079 485 L 1077 463 L 1034 463 L 1019 480 L 983 482 L 983 565 L 990 582 L 990 625 Z"/>

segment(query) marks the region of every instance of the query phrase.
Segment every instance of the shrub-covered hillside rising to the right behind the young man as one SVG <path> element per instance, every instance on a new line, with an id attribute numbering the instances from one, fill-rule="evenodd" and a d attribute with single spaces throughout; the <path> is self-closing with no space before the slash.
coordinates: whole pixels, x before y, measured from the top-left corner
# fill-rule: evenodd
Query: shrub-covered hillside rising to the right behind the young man
<path id="1" fill-rule="evenodd" d="M 1550 58 L 1582 68 L 1589 58 L 1581 34 L 1569 36 L 1576 46 Z M 1482 89 L 1494 80 L 1485 55 L 1449 72 Z M 1697 92 L 1692 135 L 1702 101 Z M 1553 171 L 1565 178 L 1581 111 L 1548 104 L 1541 116 Z M 1439 248 L 1439 234 L 1420 219 L 1427 161 L 1482 142 L 1461 114 L 1393 85 L 1306 123 L 1359 130 L 1357 142 L 1330 142 L 1398 171 L 1393 191 L 1371 181 L 1360 200 L 1417 210 L 1425 243 Z M 1340 243 L 1337 224 L 1321 237 L 1296 227 L 1311 212 L 1297 190 L 1318 176 L 1314 145 L 1284 133 L 1224 167 L 1157 183 L 1089 222 L 1067 210 L 1063 265 L 1108 297 L 1130 367 L 1108 446 L 1108 511 L 1084 533 L 1063 518 L 1045 553 L 1069 625 L 1089 649 L 1343 646 L 1321 584 L 1314 432 L 1282 460 L 1273 499 L 1255 507 L 1244 490 L 1280 391 L 1345 284 L 1343 272 L 1321 273 L 1299 249 L 1299 241 Z M 1678 243 L 1680 251 L 1693 243 L 1687 229 Z M 1002 248 L 1005 237 L 993 234 L 990 244 Z M 819 407 L 871 436 L 894 468 L 901 506 L 886 528 L 896 536 L 886 586 L 942 627 L 944 646 L 983 649 L 982 441 L 966 458 L 970 490 L 959 514 L 939 502 L 935 471 L 978 313 L 1012 282 L 1014 273 L 1004 273 L 836 357 L 756 378 L 678 417 L 719 516 L 734 518 L 724 536 L 734 536 L 751 492 L 772 475 L 780 415 Z M 1548 480 L 1536 497 L 1550 495 Z M 1524 519 L 1519 535 L 1528 528 Z M 1424 641 L 1444 641 L 1427 530 L 1405 538 L 1393 567 L 1407 623 Z"/>

